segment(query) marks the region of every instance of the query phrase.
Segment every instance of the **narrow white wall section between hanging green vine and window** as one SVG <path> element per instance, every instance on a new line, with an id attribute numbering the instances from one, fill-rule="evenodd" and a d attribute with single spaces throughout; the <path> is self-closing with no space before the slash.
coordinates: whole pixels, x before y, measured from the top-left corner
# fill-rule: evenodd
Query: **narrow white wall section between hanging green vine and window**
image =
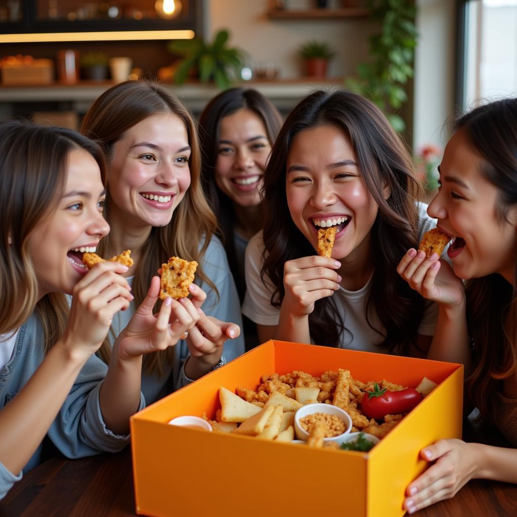
<path id="1" fill-rule="evenodd" d="M 451 0 L 417 0 L 413 147 L 444 148 L 444 122 L 454 114 L 456 7 Z"/>

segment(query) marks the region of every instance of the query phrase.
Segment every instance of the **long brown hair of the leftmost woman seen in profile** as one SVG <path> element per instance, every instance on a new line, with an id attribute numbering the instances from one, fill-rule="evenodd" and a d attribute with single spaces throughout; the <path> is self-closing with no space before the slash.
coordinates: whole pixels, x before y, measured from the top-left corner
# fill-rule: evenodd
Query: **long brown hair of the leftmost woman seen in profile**
<path id="1" fill-rule="evenodd" d="M 43 326 L 45 353 L 63 334 L 69 312 L 63 293 L 38 301 L 38 278 L 28 251 L 33 232 L 55 211 L 66 184 L 70 152 L 82 148 L 99 165 L 100 147 L 69 129 L 19 121 L 0 124 L 0 334 L 16 330 L 36 310 Z"/>

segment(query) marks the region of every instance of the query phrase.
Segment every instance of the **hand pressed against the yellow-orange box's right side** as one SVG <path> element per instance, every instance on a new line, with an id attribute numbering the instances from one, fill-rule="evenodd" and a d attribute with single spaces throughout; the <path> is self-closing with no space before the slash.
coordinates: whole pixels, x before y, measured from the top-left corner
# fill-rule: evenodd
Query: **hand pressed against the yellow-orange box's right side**
<path id="1" fill-rule="evenodd" d="M 409 483 L 404 508 L 414 513 L 422 508 L 450 499 L 474 477 L 477 468 L 477 445 L 458 439 L 439 440 L 420 451 L 425 461 L 435 463 Z"/>

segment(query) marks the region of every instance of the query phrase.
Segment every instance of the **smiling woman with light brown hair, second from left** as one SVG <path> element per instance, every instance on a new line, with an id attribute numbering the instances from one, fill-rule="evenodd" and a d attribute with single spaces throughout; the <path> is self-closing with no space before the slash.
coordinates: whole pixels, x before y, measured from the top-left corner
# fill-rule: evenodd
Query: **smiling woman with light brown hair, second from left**
<path id="1" fill-rule="evenodd" d="M 129 248 L 135 261 L 126 273 L 135 300 L 114 318 L 99 355 L 109 361 L 113 343 L 138 332 L 125 327 L 149 283 L 149 294 L 158 297 L 160 279 L 153 276 L 163 263 L 177 255 L 199 264 L 192 299 L 172 300 L 173 311 L 196 311 L 199 321 L 186 341 L 171 341 L 144 359 L 142 391 L 147 403 L 154 402 L 244 352 L 239 298 L 201 187 L 196 126 L 165 88 L 128 81 L 94 102 L 81 131 L 102 141 L 108 163 L 105 216 L 112 232 L 100 254 L 108 257 Z"/>

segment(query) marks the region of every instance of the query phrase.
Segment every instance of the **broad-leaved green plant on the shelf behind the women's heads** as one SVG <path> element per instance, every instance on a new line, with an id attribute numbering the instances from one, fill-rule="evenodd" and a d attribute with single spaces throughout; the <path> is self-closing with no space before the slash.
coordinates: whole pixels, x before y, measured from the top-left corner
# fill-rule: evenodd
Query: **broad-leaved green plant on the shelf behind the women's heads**
<path id="1" fill-rule="evenodd" d="M 193 70 L 199 72 L 202 83 L 214 81 L 216 86 L 226 89 L 232 84 L 231 70 L 238 76 L 244 63 L 244 53 L 236 47 L 228 47 L 228 31 L 219 31 L 212 43 L 200 38 L 175 40 L 167 45 L 173 54 L 183 56 L 174 73 L 174 80 L 183 84 Z"/>

